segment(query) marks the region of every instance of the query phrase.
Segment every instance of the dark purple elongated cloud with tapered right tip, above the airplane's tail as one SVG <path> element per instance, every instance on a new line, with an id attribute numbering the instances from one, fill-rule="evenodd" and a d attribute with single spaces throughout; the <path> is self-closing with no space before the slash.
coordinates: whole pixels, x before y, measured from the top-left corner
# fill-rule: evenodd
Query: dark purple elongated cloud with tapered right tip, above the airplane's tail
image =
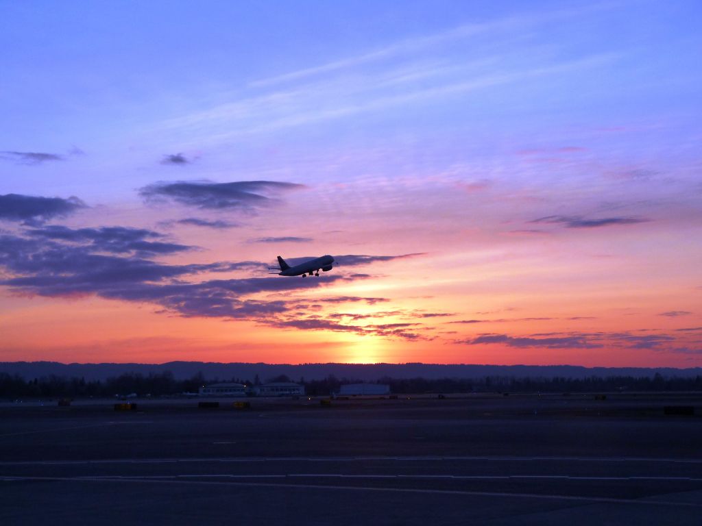
<path id="1" fill-rule="evenodd" d="M 204 210 L 255 212 L 276 203 L 277 194 L 302 188 L 303 184 L 277 181 L 161 181 L 143 187 L 139 194 L 152 203 L 175 202 Z"/>

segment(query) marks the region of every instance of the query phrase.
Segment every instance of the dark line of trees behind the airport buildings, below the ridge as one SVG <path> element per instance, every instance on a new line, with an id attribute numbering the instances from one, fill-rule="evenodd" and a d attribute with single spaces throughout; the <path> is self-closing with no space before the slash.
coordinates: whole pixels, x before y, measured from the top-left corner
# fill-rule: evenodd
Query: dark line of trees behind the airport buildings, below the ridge
<path id="1" fill-rule="evenodd" d="M 267 382 L 291 382 L 289 377 L 280 375 Z M 140 375 L 127 373 L 105 380 L 66 378 L 57 375 L 24 379 L 19 375 L 0 373 L 0 398 L 101 398 L 112 396 L 178 396 L 183 393 L 197 393 L 201 386 L 218 382 L 234 382 L 246 386 L 260 384 L 258 375 L 250 379 L 206 379 L 201 373 L 189 379 L 176 379 L 171 372 Z M 339 391 L 343 384 L 361 383 L 357 379 L 338 379 L 329 375 L 324 379 L 295 381 L 305 386 L 310 396 L 328 396 Z M 663 377 L 656 373 L 653 377 L 500 377 L 486 376 L 477 379 L 461 378 L 409 378 L 383 377 L 378 384 L 388 384 L 391 393 L 592 393 L 595 391 L 702 391 L 702 376 Z"/>

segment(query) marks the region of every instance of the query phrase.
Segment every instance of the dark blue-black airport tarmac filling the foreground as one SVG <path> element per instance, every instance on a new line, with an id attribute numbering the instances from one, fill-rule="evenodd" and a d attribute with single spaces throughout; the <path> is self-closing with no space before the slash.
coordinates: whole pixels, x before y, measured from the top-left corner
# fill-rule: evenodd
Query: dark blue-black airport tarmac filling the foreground
<path id="1" fill-rule="evenodd" d="M 702 525 L 702 394 L 595 398 L 0 403 L 0 523 Z"/>

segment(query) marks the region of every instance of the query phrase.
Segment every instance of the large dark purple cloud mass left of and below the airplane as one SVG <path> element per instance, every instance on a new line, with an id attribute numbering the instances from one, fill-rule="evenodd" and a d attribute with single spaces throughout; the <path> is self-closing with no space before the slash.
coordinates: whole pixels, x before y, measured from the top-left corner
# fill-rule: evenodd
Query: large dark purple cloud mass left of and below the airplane
<path id="1" fill-rule="evenodd" d="M 33 233 L 33 235 L 31 235 Z M 319 288 L 347 280 L 342 276 L 319 279 L 232 278 L 183 281 L 198 274 L 222 273 L 260 267 L 260 262 L 215 262 L 168 265 L 139 255 L 117 255 L 127 247 L 143 248 L 152 231 L 110 227 L 67 229 L 48 227 L 30 237 L 0 236 L 0 267 L 11 277 L 0 281 L 16 292 L 46 297 L 97 295 L 128 302 L 150 302 L 183 316 L 241 318 L 270 316 L 286 310 L 283 300 L 259 301 L 251 295 Z M 86 242 L 84 245 L 75 243 Z M 146 242 L 156 243 L 156 242 Z M 95 253 L 105 247 L 112 254 Z M 150 247 L 152 252 L 153 246 Z M 141 250 L 144 252 L 144 250 Z"/>

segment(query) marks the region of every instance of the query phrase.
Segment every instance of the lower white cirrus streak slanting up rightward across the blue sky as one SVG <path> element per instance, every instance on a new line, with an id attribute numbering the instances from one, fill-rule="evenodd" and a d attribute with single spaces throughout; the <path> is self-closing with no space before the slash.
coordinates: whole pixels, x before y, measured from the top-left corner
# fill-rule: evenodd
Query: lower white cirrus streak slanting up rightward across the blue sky
<path id="1" fill-rule="evenodd" d="M 171 119 L 163 124 L 163 128 L 168 132 L 180 130 L 198 143 L 212 139 L 231 140 L 239 135 L 273 132 L 360 113 L 426 104 L 442 97 L 465 96 L 520 81 L 583 69 L 597 70 L 617 58 L 618 55 L 613 53 L 604 53 L 497 70 L 494 69 L 494 63 L 499 61 L 497 57 L 491 60 L 476 58 L 472 62 L 464 60 L 461 65 L 417 65 L 416 72 L 408 73 L 407 68 L 402 67 L 383 72 L 381 76 L 362 75 L 361 78 L 366 77 L 362 83 L 350 75 L 351 79 L 317 81 L 308 86 L 223 102 L 205 112 Z M 490 66 L 487 67 L 486 63 Z M 456 77 L 456 72 L 461 74 Z M 418 83 L 420 79 L 425 79 L 425 83 Z M 202 130 L 207 130 L 206 135 L 197 135 L 202 134 Z"/>

